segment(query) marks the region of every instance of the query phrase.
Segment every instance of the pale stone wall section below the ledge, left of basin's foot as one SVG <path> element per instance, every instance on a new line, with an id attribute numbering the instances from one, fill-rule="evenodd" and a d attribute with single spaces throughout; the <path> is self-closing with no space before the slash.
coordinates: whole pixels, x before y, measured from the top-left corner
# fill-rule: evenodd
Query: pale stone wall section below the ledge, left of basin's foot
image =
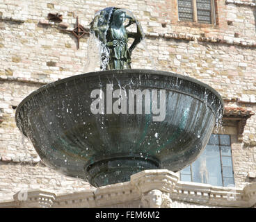
<path id="1" fill-rule="evenodd" d="M 8 200 L 18 191 L 28 189 L 49 189 L 61 194 L 90 189 L 90 185 L 83 180 L 63 176 L 40 162 L 0 161 L 0 200 Z"/>

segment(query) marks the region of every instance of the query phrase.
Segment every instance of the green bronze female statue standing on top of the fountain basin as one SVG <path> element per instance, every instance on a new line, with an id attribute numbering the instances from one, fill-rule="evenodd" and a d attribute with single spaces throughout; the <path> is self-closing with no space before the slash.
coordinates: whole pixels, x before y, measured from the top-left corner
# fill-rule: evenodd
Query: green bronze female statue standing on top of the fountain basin
<path id="1" fill-rule="evenodd" d="M 129 19 L 127 25 L 126 19 Z M 127 30 L 131 24 L 136 24 L 136 33 Z M 107 61 L 105 69 L 131 69 L 131 52 L 143 38 L 143 30 L 136 19 L 127 15 L 125 10 L 106 8 L 95 16 L 90 25 L 90 31 L 107 51 L 101 55 L 102 62 Z M 128 46 L 129 37 L 134 38 L 131 46 Z"/>

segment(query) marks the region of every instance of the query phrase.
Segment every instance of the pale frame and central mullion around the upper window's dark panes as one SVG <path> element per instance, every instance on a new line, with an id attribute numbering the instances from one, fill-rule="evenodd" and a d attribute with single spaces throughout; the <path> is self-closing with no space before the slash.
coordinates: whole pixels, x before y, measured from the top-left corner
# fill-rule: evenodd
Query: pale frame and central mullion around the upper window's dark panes
<path id="1" fill-rule="evenodd" d="M 202 24 L 202 25 L 214 25 L 216 26 L 216 0 L 210 0 L 211 1 L 211 23 L 202 23 L 202 22 L 198 22 L 198 8 L 197 8 L 197 3 L 196 0 L 191 0 L 191 5 L 192 5 L 192 23 L 193 24 Z M 179 0 L 177 0 L 177 15 L 178 15 L 178 21 L 179 22 L 191 22 L 191 21 L 186 21 L 186 20 L 179 20 Z"/>

